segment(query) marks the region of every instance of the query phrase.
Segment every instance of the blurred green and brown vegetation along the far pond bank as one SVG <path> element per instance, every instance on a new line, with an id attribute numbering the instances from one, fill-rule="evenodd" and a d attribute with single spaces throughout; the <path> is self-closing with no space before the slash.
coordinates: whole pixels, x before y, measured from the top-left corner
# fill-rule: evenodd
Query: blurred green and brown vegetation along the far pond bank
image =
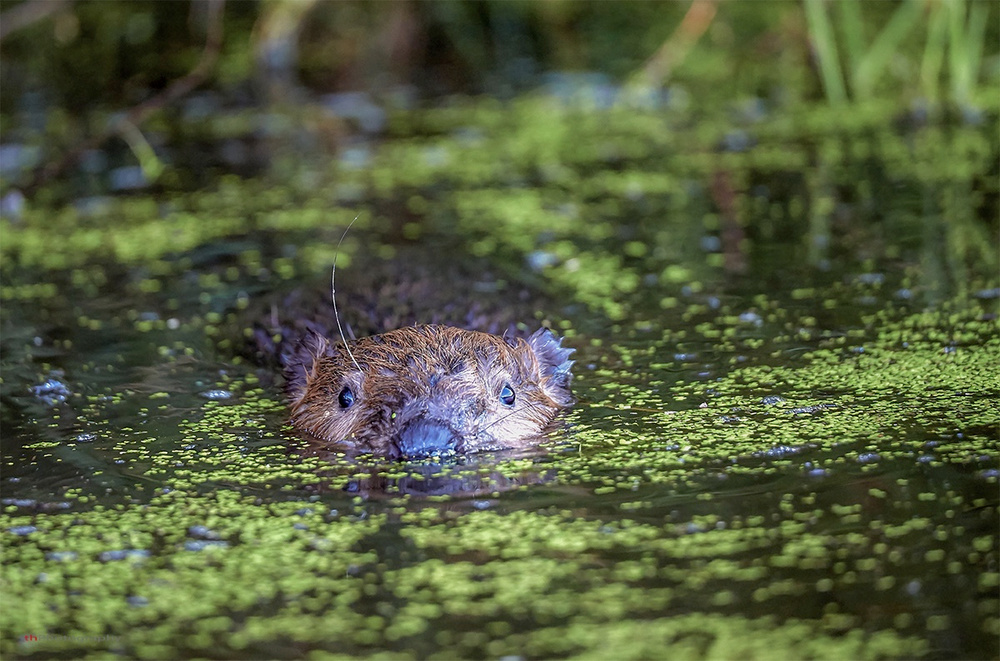
<path id="1" fill-rule="evenodd" d="M 290 115 L 329 154 L 358 124 L 384 128 L 365 119 L 370 108 L 345 112 L 350 103 L 326 96 L 343 92 L 392 108 L 585 87 L 605 102 L 671 98 L 695 118 L 881 100 L 915 120 L 983 121 L 1000 80 L 989 0 L 4 0 L 0 9 L 0 128 L 5 143 L 25 147 L 5 153 L 5 189 L 33 190 L 39 173 L 28 172 L 67 150 L 79 161 L 81 145 L 125 151 L 125 161 L 131 152 L 159 175 L 166 143 L 262 130 L 244 118 L 192 136 L 190 120 L 223 110 Z M 264 127 L 278 141 L 288 137 L 280 124 Z M 110 134 L 124 144 L 102 139 Z M 213 160 L 205 152 L 183 164 L 200 169 Z"/>

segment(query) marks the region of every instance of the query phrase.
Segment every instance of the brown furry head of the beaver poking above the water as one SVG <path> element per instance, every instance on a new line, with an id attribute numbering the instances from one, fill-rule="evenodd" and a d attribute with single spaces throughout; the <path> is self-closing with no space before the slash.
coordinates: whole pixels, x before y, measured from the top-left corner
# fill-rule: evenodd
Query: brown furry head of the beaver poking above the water
<path id="1" fill-rule="evenodd" d="M 355 365 L 310 333 L 286 363 L 292 424 L 392 458 L 527 447 L 573 403 L 560 342 L 412 326 L 353 342 Z"/>

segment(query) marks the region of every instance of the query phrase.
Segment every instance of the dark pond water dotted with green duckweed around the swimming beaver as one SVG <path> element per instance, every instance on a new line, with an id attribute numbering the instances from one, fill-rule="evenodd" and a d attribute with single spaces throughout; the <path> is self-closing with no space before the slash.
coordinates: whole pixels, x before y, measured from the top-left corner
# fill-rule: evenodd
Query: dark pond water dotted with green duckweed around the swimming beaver
<path id="1" fill-rule="evenodd" d="M 4 221 L 5 656 L 1000 653 L 995 109 L 734 146 L 548 104 Z M 538 452 L 379 462 L 288 428 L 242 330 L 359 211 L 348 286 L 416 251 L 544 301 L 524 322 L 576 349 L 578 402 Z"/>

